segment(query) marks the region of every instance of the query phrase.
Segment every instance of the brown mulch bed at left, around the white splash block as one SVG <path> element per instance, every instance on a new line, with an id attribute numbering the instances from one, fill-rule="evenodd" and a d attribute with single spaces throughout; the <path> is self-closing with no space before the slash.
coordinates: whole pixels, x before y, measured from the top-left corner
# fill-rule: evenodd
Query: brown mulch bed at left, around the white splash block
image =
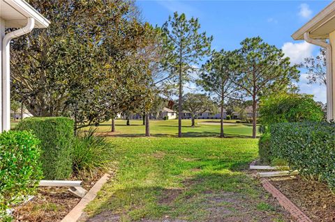
<path id="1" fill-rule="evenodd" d="M 77 176 L 70 180 L 82 180 L 82 187 L 89 191 L 102 176 L 103 172 L 98 171 L 89 177 Z M 68 192 L 68 187 L 40 187 L 32 200 L 14 208 L 14 221 L 61 221 L 80 200 Z"/>

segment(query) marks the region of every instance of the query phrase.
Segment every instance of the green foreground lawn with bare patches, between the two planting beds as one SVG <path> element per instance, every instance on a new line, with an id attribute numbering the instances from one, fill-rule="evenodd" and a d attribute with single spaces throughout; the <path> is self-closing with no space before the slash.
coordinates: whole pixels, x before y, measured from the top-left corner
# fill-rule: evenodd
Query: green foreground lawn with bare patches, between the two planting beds
<path id="1" fill-rule="evenodd" d="M 108 139 L 117 172 L 87 207 L 88 221 L 287 221 L 244 171 L 258 140 Z"/>

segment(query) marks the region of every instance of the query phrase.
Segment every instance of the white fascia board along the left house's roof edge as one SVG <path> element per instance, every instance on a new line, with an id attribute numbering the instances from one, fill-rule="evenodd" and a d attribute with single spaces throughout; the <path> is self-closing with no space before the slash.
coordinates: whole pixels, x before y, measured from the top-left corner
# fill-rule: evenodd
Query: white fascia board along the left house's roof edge
<path id="1" fill-rule="evenodd" d="M 12 6 L 15 10 L 20 12 L 22 15 L 27 18 L 31 17 L 35 19 L 36 28 L 47 28 L 49 26 L 50 21 L 47 20 L 43 15 L 38 13 L 38 11 L 33 8 L 29 3 L 24 0 L 2 0 L 8 5 Z M 15 27 L 13 27 L 15 28 Z"/>

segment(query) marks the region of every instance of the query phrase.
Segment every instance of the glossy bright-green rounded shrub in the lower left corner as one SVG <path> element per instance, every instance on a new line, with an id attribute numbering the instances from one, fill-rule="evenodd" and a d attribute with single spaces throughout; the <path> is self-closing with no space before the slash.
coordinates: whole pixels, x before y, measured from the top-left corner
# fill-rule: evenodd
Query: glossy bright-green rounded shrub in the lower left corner
<path id="1" fill-rule="evenodd" d="M 10 221 L 6 209 L 36 191 L 43 175 L 39 143 L 27 131 L 0 134 L 0 221 Z"/>

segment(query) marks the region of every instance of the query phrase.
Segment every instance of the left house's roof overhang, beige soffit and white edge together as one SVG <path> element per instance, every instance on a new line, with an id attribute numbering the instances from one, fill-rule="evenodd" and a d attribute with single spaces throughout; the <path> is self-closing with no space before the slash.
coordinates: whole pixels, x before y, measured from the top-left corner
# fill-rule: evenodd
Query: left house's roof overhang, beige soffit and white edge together
<path id="1" fill-rule="evenodd" d="M 22 28 L 28 18 L 35 19 L 35 28 L 47 28 L 50 22 L 24 0 L 0 0 L 0 17 L 6 28 Z"/>

